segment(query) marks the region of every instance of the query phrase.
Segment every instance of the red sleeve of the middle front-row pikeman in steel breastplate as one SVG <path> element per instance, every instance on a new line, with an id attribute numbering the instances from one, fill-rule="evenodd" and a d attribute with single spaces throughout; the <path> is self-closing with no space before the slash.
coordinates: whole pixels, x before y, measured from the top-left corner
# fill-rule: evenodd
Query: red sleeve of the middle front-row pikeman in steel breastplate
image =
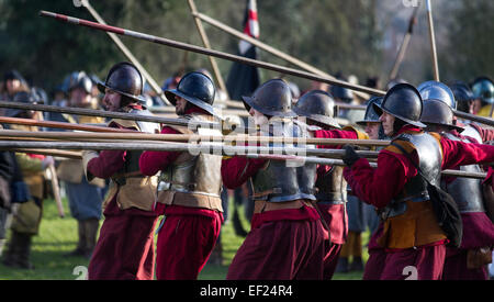
<path id="1" fill-rule="evenodd" d="M 228 189 L 240 187 L 254 176 L 266 163 L 266 159 L 231 157 L 222 160 L 223 183 Z"/>

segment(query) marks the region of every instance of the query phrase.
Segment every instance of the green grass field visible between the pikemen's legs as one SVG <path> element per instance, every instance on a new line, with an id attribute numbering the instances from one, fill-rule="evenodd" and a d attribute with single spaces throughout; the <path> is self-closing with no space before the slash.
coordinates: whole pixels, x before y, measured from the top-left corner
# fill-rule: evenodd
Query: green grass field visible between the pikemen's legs
<path id="1" fill-rule="evenodd" d="M 55 202 L 53 200 L 44 202 L 40 234 L 33 239 L 31 254 L 31 261 L 35 269 L 12 269 L 0 264 L 1 280 L 76 280 L 81 278 L 89 260 L 82 257 L 64 257 L 64 254 L 74 250 L 77 244 L 77 222 L 70 216 L 65 199 L 64 206 L 66 217 L 60 219 Z M 243 221 L 243 224 L 245 228 L 248 228 L 247 221 Z M 222 228 L 223 265 L 206 265 L 199 279 L 224 280 L 228 265 L 243 241 L 243 237 L 235 234 L 232 223 L 226 222 Z M 362 242 L 367 244 L 367 233 L 363 234 Z M 364 248 L 363 259 L 367 260 L 367 248 Z M 360 280 L 361 276 L 361 272 L 336 273 L 334 279 Z"/>

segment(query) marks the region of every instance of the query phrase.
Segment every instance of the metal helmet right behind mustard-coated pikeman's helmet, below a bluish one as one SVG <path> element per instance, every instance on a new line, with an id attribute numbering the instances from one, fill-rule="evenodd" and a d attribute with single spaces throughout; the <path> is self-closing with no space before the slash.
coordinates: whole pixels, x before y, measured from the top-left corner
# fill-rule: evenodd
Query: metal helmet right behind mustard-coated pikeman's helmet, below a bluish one
<path id="1" fill-rule="evenodd" d="M 420 122 L 425 124 L 442 125 L 462 132 L 464 128 L 453 122 L 453 112 L 449 105 L 440 100 L 424 101 Z"/>

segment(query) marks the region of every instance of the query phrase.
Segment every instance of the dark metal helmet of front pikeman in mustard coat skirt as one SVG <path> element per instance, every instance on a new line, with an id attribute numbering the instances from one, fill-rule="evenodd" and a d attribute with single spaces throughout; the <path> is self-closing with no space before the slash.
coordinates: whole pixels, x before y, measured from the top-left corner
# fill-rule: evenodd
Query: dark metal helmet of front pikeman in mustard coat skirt
<path id="1" fill-rule="evenodd" d="M 409 83 L 398 83 L 391 88 L 381 104 L 373 103 L 375 112 L 381 115 L 386 112 L 405 123 L 425 127 L 420 123 L 423 101 L 420 93 Z"/>

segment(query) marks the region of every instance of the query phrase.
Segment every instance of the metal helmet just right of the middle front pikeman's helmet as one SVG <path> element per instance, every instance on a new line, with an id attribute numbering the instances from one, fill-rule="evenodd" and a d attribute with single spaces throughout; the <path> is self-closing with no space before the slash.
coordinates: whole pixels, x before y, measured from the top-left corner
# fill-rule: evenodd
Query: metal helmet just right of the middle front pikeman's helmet
<path id="1" fill-rule="evenodd" d="M 315 122 L 319 122 L 332 127 L 340 127 L 338 122 L 334 119 L 335 100 L 326 91 L 308 91 L 299 99 L 292 110 L 296 114 L 311 119 Z"/>

